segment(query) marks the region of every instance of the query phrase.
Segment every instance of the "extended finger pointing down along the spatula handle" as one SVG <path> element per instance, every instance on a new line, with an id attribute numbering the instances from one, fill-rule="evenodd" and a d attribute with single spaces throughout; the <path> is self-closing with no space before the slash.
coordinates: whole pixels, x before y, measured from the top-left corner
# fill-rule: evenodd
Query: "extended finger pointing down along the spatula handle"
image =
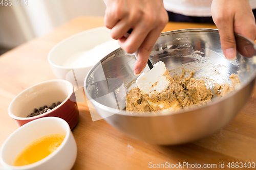
<path id="1" fill-rule="evenodd" d="M 157 41 L 161 29 L 152 30 L 144 39 L 139 48 L 139 55 L 134 65 L 134 74 L 139 75 L 147 64 L 148 57 L 150 56 L 153 46 Z"/>

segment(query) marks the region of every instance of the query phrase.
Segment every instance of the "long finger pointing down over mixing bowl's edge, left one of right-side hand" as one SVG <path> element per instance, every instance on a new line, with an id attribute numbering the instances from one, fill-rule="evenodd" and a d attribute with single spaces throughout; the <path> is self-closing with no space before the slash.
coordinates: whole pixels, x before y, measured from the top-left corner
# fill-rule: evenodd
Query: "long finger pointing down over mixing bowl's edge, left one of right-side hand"
<path id="1" fill-rule="evenodd" d="M 225 57 L 229 60 L 235 59 L 237 52 L 233 18 L 222 18 L 219 22 L 216 22 L 216 26 L 219 29 L 221 47 Z"/>

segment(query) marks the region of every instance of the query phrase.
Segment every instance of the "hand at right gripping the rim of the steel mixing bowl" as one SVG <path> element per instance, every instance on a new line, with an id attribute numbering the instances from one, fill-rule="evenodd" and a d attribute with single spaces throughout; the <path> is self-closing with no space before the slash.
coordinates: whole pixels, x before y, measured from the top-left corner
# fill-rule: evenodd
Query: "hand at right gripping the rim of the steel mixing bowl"
<path id="1" fill-rule="evenodd" d="M 236 40 L 234 32 L 256 39 L 256 25 L 248 0 L 213 0 L 211 15 L 219 29 L 221 47 L 227 59 L 236 58 Z M 254 52 L 248 47 L 247 53 Z"/>

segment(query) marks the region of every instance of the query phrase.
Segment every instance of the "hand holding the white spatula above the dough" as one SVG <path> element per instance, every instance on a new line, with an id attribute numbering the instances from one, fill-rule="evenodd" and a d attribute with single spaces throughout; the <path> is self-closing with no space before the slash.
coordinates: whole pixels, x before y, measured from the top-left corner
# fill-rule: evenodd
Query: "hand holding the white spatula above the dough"
<path id="1" fill-rule="evenodd" d="M 139 48 L 134 66 L 136 75 L 145 68 L 167 22 L 162 0 L 106 0 L 104 24 L 111 29 L 111 37 L 118 39 L 127 53 L 135 53 Z M 131 35 L 125 38 L 124 34 L 130 29 L 133 29 Z"/>

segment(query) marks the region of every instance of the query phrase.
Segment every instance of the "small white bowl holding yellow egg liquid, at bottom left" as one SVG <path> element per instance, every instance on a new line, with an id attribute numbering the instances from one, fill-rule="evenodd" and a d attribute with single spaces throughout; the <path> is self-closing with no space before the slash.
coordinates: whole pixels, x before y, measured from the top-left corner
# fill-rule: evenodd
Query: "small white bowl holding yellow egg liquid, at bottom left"
<path id="1" fill-rule="evenodd" d="M 66 135 L 59 147 L 49 156 L 35 163 L 24 166 L 13 166 L 17 155 L 32 141 L 52 134 Z M 58 117 L 43 117 L 14 131 L 4 142 L 0 150 L 0 162 L 4 169 L 13 170 L 69 170 L 73 167 L 77 156 L 75 138 L 69 124 Z"/>

